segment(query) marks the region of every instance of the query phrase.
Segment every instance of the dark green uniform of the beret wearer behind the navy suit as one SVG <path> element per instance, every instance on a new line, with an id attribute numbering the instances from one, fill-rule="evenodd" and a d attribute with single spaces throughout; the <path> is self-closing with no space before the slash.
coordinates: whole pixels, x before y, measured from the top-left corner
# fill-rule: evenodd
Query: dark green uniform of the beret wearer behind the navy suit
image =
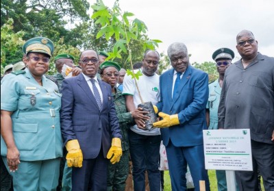
<path id="1" fill-rule="evenodd" d="M 108 191 L 125 190 L 125 180 L 129 172 L 129 140 L 127 137 L 128 125 L 132 123 L 132 114 L 127 112 L 125 107 L 125 97 L 122 92 L 116 88 L 116 94 L 112 94 L 117 116 L 119 118 L 120 129 L 122 133 L 122 149 L 123 155 L 120 162 L 108 165 Z"/>

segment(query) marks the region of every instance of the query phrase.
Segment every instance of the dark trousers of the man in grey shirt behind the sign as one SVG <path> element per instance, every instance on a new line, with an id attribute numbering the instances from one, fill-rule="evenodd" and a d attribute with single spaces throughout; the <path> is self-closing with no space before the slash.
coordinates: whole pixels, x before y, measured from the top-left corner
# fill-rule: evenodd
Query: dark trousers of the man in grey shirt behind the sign
<path id="1" fill-rule="evenodd" d="M 264 190 L 274 190 L 274 144 L 251 140 L 253 171 L 236 171 L 240 191 L 258 191 L 258 169 Z"/>

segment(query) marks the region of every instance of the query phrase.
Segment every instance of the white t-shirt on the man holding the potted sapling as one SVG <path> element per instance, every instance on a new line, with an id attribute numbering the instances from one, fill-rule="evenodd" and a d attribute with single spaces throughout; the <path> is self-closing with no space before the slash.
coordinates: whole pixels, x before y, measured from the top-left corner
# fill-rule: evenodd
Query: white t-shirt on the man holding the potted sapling
<path id="1" fill-rule="evenodd" d="M 137 73 L 140 71 L 135 70 L 134 73 Z M 138 88 L 140 90 L 140 94 L 142 97 L 142 101 L 147 102 L 151 101 L 153 105 L 158 103 L 160 101 L 160 84 L 159 84 L 159 75 L 155 74 L 151 77 L 148 77 L 144 74 L 137 79 Z M 135 85 L 135 81 L 132 78 L 132 76 L 125 75 L 124 81 L 123 81 L 123 94 L 125 95 L 132 95 L 134 99 L 134 105 L 137 108 L 137 106 L 142 103 L 140 100 L 140 96 L 138 94 L 138 90 Z M 135 133 L 145 135 L 145 136 L 156 136 L 160 135 L 160 129 L 159 128 L 153 128 L 150 131 L 149 130 L 143 130 L 139 129 L 137 125 L 134 125 L 133 127 L 130 127 L 132 131 Z"/>

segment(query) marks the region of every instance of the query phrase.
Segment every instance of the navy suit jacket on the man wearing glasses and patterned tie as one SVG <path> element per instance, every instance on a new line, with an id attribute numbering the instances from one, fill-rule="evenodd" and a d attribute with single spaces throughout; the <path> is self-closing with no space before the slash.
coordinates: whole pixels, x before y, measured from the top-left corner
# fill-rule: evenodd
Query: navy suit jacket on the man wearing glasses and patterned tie
<path id="1" fill-rule="evenodd" d="M 64 79 L 62 83 L 61 131 L 64 145 L 77 139 L 84 159 L 94 159 L 101 146 L 106 157 L 112 138 L 122 138 L 109 84 L 98 80 L 103 94 L 101 111 L 84 78 Z"/>

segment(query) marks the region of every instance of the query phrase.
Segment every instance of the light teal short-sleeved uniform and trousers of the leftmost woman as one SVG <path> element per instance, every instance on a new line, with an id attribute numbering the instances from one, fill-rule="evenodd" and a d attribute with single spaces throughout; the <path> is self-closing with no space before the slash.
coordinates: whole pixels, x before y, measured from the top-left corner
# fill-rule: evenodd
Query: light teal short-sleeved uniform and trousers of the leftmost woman
<path id="1" fill-rule="evenodd" d="M 59 176 L 62 157 L 61 94 L 56 84 L 45 76 L 42 84 L 38 85 L 28 69 L 11 73 L 1 81 L 1 110 L 13 112 L 12 131 L 21 160 L 18 170 L 10 173 L 14 190 L 38 190 L 35 181 L 38 170 L 41 170 L 39 179 L 44 182 L 43 188 L 52 189 L 51 186 L 58 183 L 55 177 Z M 7 147 L 1 136 L 1 156 L 5 165 L 6 155 Z M 42 164 L 45 168 L 41 168 Z"/>

